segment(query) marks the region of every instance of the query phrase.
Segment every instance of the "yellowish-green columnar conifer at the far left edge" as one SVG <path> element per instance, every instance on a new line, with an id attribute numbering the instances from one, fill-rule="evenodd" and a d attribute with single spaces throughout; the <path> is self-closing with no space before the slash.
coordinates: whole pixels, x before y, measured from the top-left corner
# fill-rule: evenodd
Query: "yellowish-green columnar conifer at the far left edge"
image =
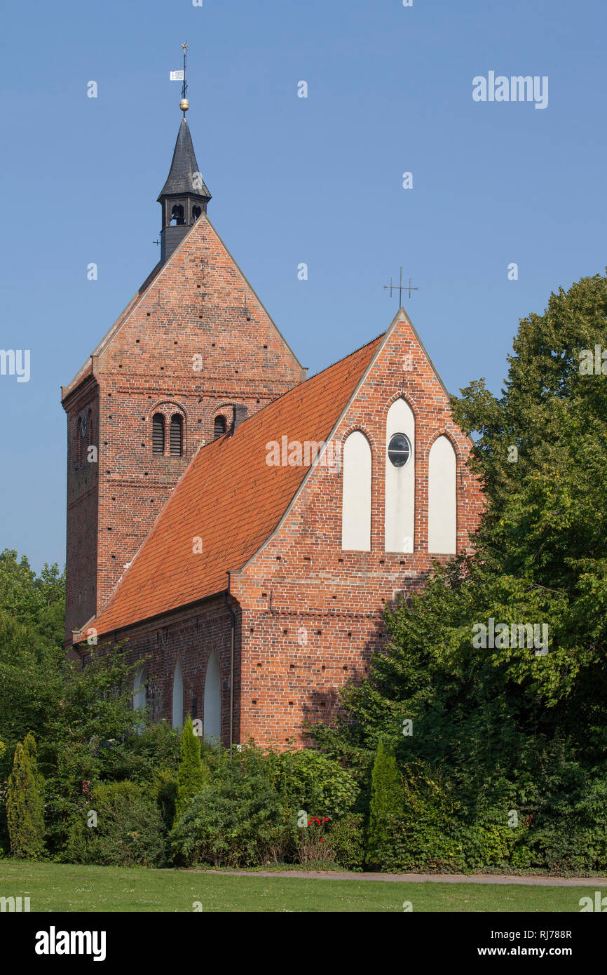
<path id="1" fill-rule="evenodd" d="M 15 749 L 8 783 L 7 820 L 13 855 L 40 856 L 44 849 L 44 778 L 38 770 L 31 731 Z"/>

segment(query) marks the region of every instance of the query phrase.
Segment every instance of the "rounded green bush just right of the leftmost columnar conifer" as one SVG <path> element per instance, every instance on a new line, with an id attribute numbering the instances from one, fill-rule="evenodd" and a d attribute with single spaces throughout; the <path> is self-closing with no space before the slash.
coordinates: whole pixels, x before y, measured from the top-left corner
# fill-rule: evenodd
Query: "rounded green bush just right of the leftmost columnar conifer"
<path id="1" fill-rule="evenodd" d="M 92 811 L 96 827 L 88 825 Z M 86 818 L 73 820 L 62 859 L 105 867 L 160 867 L 166 847 L 156 802 L 134 782 L 111 782 L 96 786 Z"/>

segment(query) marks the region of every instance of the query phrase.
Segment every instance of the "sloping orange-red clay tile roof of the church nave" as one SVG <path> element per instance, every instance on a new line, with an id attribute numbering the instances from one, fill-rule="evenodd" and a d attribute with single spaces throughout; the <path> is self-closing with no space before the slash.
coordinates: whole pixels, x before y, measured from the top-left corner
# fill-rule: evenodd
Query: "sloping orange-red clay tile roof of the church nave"
<path id="1" fill-rule="evenodd" d="M 302 444 L 326 441 L 383 338 L 198 451 L 114 596 L 90 624 L 99 636 L 227 588 L 227 571 L 242 568 L 270 537 L 311 466 L 269 466 L 266 444 L 280 444 L 283 436 Z M 193 552 L 196 537 L 202 554 Z"/>

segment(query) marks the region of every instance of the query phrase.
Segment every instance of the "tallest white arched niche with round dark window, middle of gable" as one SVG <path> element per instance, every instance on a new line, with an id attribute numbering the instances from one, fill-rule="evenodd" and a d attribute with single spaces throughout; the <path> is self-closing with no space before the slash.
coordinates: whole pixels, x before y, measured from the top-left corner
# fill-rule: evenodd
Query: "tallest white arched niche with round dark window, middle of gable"
<path id="1" fill-rule="evenodd" d="M 386 552 L 412 552 L 415 526 L 415 417 L 395 400 L 386 418 Z"/>

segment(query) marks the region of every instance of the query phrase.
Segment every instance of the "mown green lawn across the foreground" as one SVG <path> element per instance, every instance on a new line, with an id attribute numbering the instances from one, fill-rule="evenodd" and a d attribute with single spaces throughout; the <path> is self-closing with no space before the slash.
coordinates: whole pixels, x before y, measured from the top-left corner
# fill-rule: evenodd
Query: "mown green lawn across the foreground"
<path id="1" fill-rule="evenodd" d="M 0 896 L 29 897 L 32 912 L 189 912 L 196 901 L 205 912 L 401 912 L 403 901 L 414 912 L 579 912 L 580 898 L 593 893 L 593 887 L 229 877 L 0 860 Z"/>

